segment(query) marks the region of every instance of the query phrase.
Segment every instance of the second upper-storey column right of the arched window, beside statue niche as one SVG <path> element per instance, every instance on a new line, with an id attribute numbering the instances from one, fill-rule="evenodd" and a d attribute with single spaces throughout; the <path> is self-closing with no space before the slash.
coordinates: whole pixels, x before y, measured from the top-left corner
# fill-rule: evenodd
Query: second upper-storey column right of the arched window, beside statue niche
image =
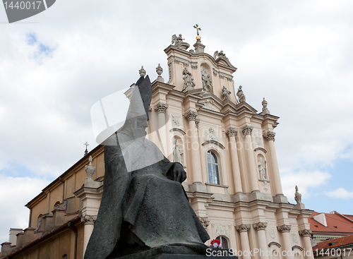
<path id="1" fill-rule="evenodd" d="M 248 165 L 250 171 L 250 182 L 251 182 L 251 192 L 259 191 L 258 190 L 258 170 L 256 169 L 255 157 L 253 156 L 253 144 L 251 140 L 251 132 L 253 127 L 246 125 L 241 128 L 241 132 L 245 136 L 245 149 L 248 155 Z"/>

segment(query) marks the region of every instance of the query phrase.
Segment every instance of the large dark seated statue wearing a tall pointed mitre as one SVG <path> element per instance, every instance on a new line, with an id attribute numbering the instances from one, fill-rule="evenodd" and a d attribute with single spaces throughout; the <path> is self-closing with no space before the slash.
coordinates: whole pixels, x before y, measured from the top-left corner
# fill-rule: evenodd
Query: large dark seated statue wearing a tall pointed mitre
<path id="1" fill-rule="evenodd" d="M 141 254 L 163 248 L 205 254 L 208 248 L 210 237 L 181 186 L 183 166 L 145 138 L 151 98 L 150 80 L 141 76 L 124 126 L 102 143 L 104 191 L 85 259 L 147 258 Z"/>

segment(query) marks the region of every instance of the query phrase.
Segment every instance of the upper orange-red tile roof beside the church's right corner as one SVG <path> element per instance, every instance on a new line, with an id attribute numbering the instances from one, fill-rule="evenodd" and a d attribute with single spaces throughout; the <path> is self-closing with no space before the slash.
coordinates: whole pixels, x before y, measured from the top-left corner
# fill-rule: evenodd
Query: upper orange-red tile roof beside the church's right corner
<path id="1" fill-rule="evenodd" d="M 310 229 L 313 234 L 353 234 L 353 215 L 340 215 L 340 213 L 325 213 L 326 223 L 328 227 L 313 219 L 314 215 L 320 213 L 313 212 L 308 219 Z"/>

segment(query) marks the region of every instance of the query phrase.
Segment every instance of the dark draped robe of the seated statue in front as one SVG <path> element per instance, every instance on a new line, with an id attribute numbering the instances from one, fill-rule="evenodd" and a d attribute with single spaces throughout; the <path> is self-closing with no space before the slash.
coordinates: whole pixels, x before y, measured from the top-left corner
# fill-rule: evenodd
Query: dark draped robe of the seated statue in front
<path id="1" fill-rule="evenodd" d="M 118 139 L 116 135 L 111 138 Z M 160 246 L 182 246 L 205 253 L 203 243 L 210 237 L 183 186 L 172 180 L 177 163 L 169 162 L 145 138 L 130 147 L 121 152 L 121 145 L 104 146 L 104 191 L 85 259 L 113 258 Z M 148 162 L 156 157 L 160 161 L 147 167 L 126 169 L 126 161 Z"/>

